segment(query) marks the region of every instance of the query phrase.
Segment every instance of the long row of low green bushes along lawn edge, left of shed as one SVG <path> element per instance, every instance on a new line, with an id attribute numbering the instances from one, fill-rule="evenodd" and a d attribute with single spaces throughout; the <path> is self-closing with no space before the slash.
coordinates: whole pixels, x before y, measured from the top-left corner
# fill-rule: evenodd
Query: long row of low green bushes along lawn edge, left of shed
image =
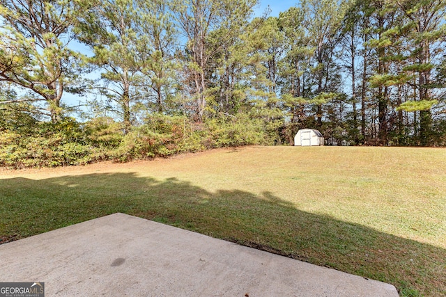
<path id="1" fill-rule="evenodd" d="M 32 125 L 28 122 L 26 129 L 9 122 L 0 125 L 0 166 L 70 166 L 166 157 L 217 147 L 268 145 L 277 143 L 279 137 L 277 127 L 270 127 L 272 123 L 246 114 L 202 123 L 183 116 L 155 114 L 124 134 L 121 123 L 112 118 L 84 123 L 72 118 L 56 124 L 35 121 Z"/>

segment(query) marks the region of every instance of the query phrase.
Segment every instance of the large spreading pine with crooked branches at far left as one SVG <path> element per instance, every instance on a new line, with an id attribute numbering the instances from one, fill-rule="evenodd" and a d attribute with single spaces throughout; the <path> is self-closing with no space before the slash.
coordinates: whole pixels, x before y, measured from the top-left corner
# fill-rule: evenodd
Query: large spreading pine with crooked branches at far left
<path id="1" fill-rule="evenodd" d="M 45 102 L 53 122 L 63 114 L 63 92 L 79 90 L 82 54 L 68 43 L 89 2 L 0 0 L 0 81 L 27 92 L 21 102 Z"/>

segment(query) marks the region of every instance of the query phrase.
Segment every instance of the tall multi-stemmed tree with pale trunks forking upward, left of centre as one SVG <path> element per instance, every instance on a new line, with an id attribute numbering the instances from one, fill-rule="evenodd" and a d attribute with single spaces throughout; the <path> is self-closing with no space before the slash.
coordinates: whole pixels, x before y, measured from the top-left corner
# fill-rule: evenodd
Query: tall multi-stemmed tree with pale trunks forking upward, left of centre
<path id="1" fill-rule="evenodd" d="M 203 119 L 206 110 L 206 93 L 210 72 L 209 61 L 220 49 L 231 44 L 238 35 L 240 26 L 252 13 L 257 0 L 174 0 L 173 11 L 176 22 L 183 33 L 185 44 L 186 76 L 190 78 L 191 95 L 197 100 L 197 114 Z M 211 32 L 221 29 L 219 43 L 209 40 Z M 215 47 L 210 47 L 215 45 Z"/>

